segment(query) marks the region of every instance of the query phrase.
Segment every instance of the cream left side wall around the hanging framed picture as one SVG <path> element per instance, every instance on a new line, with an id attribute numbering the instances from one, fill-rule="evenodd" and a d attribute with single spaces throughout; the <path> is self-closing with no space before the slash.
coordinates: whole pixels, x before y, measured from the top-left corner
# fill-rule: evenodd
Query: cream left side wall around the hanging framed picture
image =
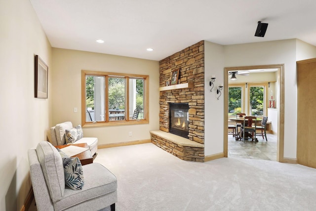
<path id="1" fill-rule="evenodd" d="M 29 0 L 0 2 L 0 210 L 21 210 L 31 189 L 27 150 L 51 125 L 51 47 Z M 48 99 L 34 97 L 34 55 L 48 65 Z"/>

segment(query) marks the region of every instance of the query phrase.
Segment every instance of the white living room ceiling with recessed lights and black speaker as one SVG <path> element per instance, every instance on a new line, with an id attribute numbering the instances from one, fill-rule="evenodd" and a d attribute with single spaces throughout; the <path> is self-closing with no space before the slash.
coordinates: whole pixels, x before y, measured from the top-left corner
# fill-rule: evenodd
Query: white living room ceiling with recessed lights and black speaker
<path id="1" fill-rule="evenodd" d="M 202 40 L 316 45 L 316 0 L 30 1 L 58 48 L 161 60 Z M 269 23 L 264 38 L 254 37 L 258 21 Z"/>

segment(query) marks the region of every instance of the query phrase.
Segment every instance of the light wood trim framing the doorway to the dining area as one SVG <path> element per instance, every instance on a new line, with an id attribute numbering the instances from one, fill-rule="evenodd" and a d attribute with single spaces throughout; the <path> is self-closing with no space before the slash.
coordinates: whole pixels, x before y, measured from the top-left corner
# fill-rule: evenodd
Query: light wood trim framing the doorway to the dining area
<path id="1" fill-rule="evenodd" d="M 225 67 L 224 68 L 224 157 L 228 157 L 228 72 L 237 70 L 254 70 L 277 68 L 278 93 L 277 93 L 277 152 L 276 161 L 284 162 L 284 64 L 276 65 L 257 65 L 244 67 Z"/>

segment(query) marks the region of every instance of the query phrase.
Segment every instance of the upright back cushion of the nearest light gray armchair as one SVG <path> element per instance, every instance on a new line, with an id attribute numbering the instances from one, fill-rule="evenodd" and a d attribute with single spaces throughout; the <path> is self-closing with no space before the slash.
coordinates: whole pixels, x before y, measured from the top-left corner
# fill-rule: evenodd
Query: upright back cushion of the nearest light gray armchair
<path id="1" fill-rule="evenodd" d="M 65 174 L 62 158 L 57 149 L 48 141 L 42 141 L 36 148 L 40 167 L 50 198 L 53 203 L 61 200 L 65 192 Z"/>

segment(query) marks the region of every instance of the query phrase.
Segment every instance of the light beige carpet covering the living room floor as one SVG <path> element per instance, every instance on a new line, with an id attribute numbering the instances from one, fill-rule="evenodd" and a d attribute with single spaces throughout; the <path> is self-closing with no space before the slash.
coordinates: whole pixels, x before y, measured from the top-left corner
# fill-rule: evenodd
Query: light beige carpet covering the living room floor
<path id="1" fill-rule="evenodd" d="M 182 161 L 154 144 L 99 149 L 117 211 L 315 211 L 316 169 L 275 161 Z"/>

